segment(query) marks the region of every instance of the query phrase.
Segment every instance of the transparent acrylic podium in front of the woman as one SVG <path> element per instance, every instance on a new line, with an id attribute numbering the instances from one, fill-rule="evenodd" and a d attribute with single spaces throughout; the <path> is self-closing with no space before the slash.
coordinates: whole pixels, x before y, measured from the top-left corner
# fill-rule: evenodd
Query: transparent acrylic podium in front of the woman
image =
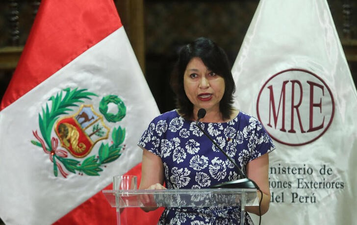
<path id="1" fill-rule="evenodd" d="M 117 208 L 118 225 L 120 225 L 120 209 L 126 207 L 241 206 L 241 218 L 245 218 L 245 206 L 258 205 L 256 189 L 103 190 L 102 192 L 109 204 Z M 144 205 L 142 202 L 144 199 L 150 201 Z M 241 220 L 241 225 L 244 221 Z"/>

